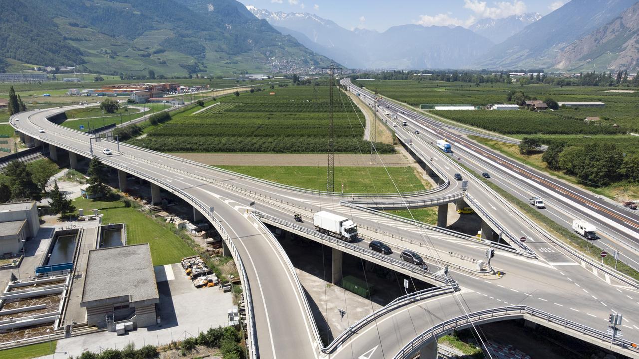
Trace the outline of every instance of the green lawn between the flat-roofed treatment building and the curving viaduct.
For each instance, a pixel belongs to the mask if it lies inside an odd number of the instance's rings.
[[[178,263],[183,257],[196,254],[176,234],[137,208],[125,207],[124,202],[78,198],[73,201],[73,205],[77,209],[101,210],[104,213],[103,224],[125,223],[127,225],[127,243],[130,245],[149,243],[154,266]]]

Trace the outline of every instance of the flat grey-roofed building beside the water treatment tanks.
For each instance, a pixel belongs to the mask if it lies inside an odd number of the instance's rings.
[[[159,302],[148,243],[89,251],[80,302],[89,326],[112,331],[118,322],[155,325]]]

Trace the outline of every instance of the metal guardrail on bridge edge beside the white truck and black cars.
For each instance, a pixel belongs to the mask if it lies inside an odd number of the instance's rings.
[[[376,260],[378,260],[378,261],[380,261],[382,263],[387,263],[391,267],[401,268],[402,270],[410,271],[411,273],[415,273],[417,275],[422,275],[422,277],[427,277],[429,279],[436,280],[437,282],[440,282],[440,283],[443,283],[443,284],[456,284],[457,283],[455,280],[450,279],[447,276],[438,275],[438,274],[433,273],[431,271],[424,270],[424,269],[422,269],[422,268],[420,268],[418,266],[415,266],[413,264],[409,264],[408,262],[399,261],[397,259],[390,258],[388,256],[384,256],[383,254],[378,254],[377,252],[373,252],[371,250],[366,250],[365,248],[359,247],[358,245],[354,245],[353,243],[348,243],[348,242],[345,242],[343,240],[339,240],[339,239],[337,239],[335,237],[327,236],[326,234],[321,234],[318,231],[312,231],[311,229],[307,229],[305,227],[300,227],[299,225],[292,224],[291,222],[286,222],[285,220],[281,220],[279,218],[275,218],[275,217],[272,217],[270,215],[266,215],[264,213],[260,213],[258,211],[254,211],[253,214],[256,217],[264,218],[268,222],[284,225],[284,227],[288,227],[290,229],[293,229],[294,231],[302,232],[302,233],[308,234],[309,236],[313,236],[314,238],[318,238],[318,240],[320,240],[320,241],[327,241],[329,243],[332,243],[333,245],[336,245],[337,247],[342,247],[342,248],[351,250],[353,252],[356,252],[358,254],[361,254],[363,256],[371,257],[371,258],[376,259]]]

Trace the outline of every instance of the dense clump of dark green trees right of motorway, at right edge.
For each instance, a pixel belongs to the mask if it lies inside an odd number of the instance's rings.
[[[539,139],[524,137],[521,153],[531,153],[539,146]],[[618,181],[639,182],[639,154],[626,155],[614,143],[594,143],[568,146],[551,143],[541,159],[548,168],[564,171],[589,186],[604,187]]]

